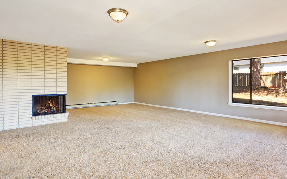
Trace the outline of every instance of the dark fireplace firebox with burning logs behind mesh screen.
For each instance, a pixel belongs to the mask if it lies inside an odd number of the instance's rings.
[[[32,115],[65,113],[66,95],[32,95]]]

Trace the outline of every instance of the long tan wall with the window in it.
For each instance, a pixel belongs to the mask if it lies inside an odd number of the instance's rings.
[[[138,64],[134,101],[287,123],[287,111],[228,106],[228,60],[278,54],[287,41]]]

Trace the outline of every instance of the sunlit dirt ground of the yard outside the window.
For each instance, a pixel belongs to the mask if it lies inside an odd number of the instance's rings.
[[[258,88],[252,92],[252,103],[287,106],[287,93],[274,93],[278,88]],[[233,101],[250,103],[249,87],[233,87]]]

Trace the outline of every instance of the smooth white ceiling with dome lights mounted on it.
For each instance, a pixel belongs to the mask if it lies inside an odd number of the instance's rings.
[[[1,0],[0,38],[143,63],[287,40],[286,0]],[[107,14],[123,8],[122,22]],[[214,47],[204,44],[218,40]]]

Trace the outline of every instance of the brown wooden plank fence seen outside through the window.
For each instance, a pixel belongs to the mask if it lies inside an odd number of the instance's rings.
[[[262,72],[261,73],[261,85],[269,88],[277,88],[282,86],[283,76],[286,76],[284,72]],[[250,85],[250,73],[235,73],[233,74],[233,86],[249,86]]]

